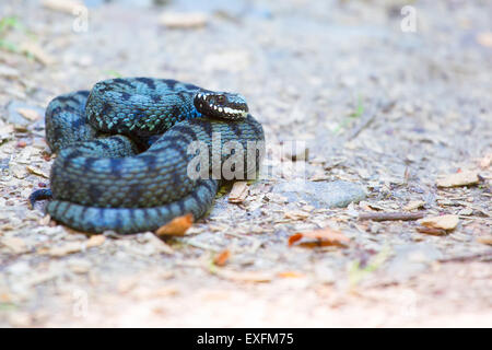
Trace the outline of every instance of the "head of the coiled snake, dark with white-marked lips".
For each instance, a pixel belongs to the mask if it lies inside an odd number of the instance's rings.
[[[248,115],[246,98],[239,94],[199,91],[194,104],[199,113],[208,117],[238,120]]]

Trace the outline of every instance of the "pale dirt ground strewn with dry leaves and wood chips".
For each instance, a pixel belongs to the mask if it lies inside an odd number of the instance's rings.
[[[0,325],[491,327],[491,2],[2,2]],[[177,237],[31,210],[48,102],[134,75],[245,95],[262,178]]]

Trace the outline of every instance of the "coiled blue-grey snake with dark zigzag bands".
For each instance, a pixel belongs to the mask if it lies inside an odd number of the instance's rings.
[[[115,78],[62,94],[45,113],[56,153],[33,206],[71,229],[132,234],[211,209],[220,186],[254,179],[265,133],[243,95],[171,79]]]

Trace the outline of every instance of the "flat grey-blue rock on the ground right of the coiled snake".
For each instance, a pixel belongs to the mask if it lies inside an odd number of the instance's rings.
[[[343,180],[325,183],[295,179],[276,185],[273,192],[286,197],[290,202],[304,200],[316,209],[344,208],[366,197],[363,186]]]

